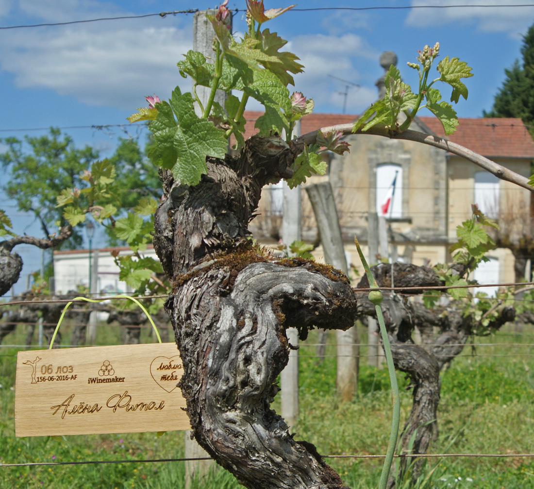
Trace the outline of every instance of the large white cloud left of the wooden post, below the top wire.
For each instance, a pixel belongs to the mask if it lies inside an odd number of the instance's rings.
[[[190,86],[176,67],[191,49],[187,28],[69,26],[1,33],[0,42],[10,46],[0,52],[0,66],[18,87],[48,88],[88,105],[132,109],[145,105],[144,95],[167,97],[178,83]]]

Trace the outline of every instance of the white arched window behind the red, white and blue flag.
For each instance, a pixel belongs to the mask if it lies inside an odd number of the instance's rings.
[[[402,218],[402,166],[376,165],[376,213],[386,218]]]

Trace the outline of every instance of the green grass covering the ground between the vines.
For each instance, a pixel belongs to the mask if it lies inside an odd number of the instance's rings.
[[[365,338],[366,331],[362,331]],[[534,452],[534,356],[528,343],[534,337],[511,335],[505,329],[494,337],[477,338],[477,343],[497,346],[476,348],[480,356],[456,359],[442,376],[439,405],[439,437],[432,453],[532,453]],[[22,344],[25,329],[18,328],[4,343]],[[101,344],[121,343],[120,328],[99,328]],[[63,343],[68,344],[68,325]],[[331,335],[331,341],[334,335]],[[150,330],[143,329],[142,341],[152,341]],[[307,343],[315,343],[311,335]],[[508,343],[525,346],[508,346]],[[362,343],[365,341],[362,339]],[[499,346],[500,344],[500,346]],[[301,347],[300,415],[292,429],[295,439],[314,443],[319,453],[383,454],[389,438],[391,400],[386,369],[376,370],[360,360],[358,395],[351,402],[339,402],[335,394],[335,347],[328,346],[326,358],[318,363],[315,348]],[[360,352],[366,354],[365,347]],[[84,460],[140,460],[178,458],[184,455],[184,434],[168,432],[124,433],[71,436],[56,441],[48,437],[14,437],[15,348],[0,349],[0,462],[60,462]],[[484,356],[484,355],[511,356]],[[411,408],[407,381],[398,375],[402,420]],[[279,399],[273,407],[279,410]],[[36,420],[38,422],[38,420]],[[378,486],[381,459],[326,459],[353,489]],[[103,488],[156,489],[184,487],[184,462],[120,463],[0,468],[0,487],[13,488]],[[425,480],[423,480],[425,479]],[[235,479],[222,470],[193,483],[196,488],[233,489]],[[399,482],[399,487],[409,487]],[[447,457],[429,459],[415,489],[534,489],[534,463],[531,459],[481,459]]]

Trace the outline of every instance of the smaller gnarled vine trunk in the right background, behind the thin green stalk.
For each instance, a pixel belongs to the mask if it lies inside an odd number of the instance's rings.
[[[380,264],[371,267],[371,271],[380,286],[391,286],[391,265]],[[395,263],[393,267],[396,287],[417,287],[405,293],[421,293],[428,286],[442,285],[434,270],[428,267],[417,267],[405,263]],[[358,288],[367,288],[368,281],[364,276]],[[367,299],[366,293],[357,293],[358,316],[374,316],[374,305]],[[405,372],[411,380],[412,409],[400,440],[401,451],[412,454],[425,454],[430,443],[437,437],[437,408],[441,381],[439,372],[447,366],[455,356],[459,355],[469,335],[478,324],[473,315],[463,316],[454,307],[427,309],[420,302],[410,301],[400,294],[384,293],[381,304],[384,322],[388,330],[391,354],[395,368]],[[515,309],[500,306],[498,318],[486,326],[488,330],[499,329],[502,324],[512,321]],[[439,329],[436,336],[429,335],[430,344],[415,345],[412,341],[414,326],[420,329]],[[411,482],[415,484],[421,473],[422,459],[412,459],[400,463],[399,476],[402,479],[411,463]],[[388,487],[395,487],[391,477]]]

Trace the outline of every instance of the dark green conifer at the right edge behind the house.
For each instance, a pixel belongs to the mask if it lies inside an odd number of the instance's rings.
[[[515,60],[505,69],[506,79],[484,117],[517,117],[534,137],[534,25],[523,36],[522,63]]]

